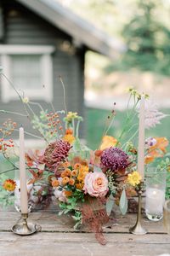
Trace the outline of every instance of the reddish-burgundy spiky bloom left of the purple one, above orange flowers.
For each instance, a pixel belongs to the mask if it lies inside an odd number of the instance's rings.
[[[51,171],[55,172],[59,163],[68,156],[70,149],[71,144],[62,140],[50,143],[42,156],[42,162],[48,166]]]

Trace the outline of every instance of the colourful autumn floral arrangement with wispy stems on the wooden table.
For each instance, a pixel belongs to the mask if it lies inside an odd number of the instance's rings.
[[[54,111],[53,106],[53,112],[48,113],[48,110],[43,110],[38,105],[40,114],[37,115],[32,108],[35,102],[19,95],[32,127],[39,132],[47,145],[42,150],[26,152],[26,169],[30,172],[28,193],[31,207],[48,207],[52,201],[58,202],[59,215],[71,212],[76,221],[75,228],[80,224],[86,225],[95,232],[101,244],[105,244],[102,225],[108,222],[114,203],[125,214],[127,199],[136,195],[141,186],[141,177],[137,170],[138,150],[133,144],[136,134],[128,137],[127,142],[122,144],[122,137],[124,134],[128,135],[133,126],[133,116],[138,115],[141,98],[136,90],[129,89],[129,93],[133,108],[129,109],[120,137],[115,138],[109,134],[116,118],[116,111],[113,109],[107,117],[99,148],[94,151],[79,138],[82,117],[77,113],[67,113],[66,109]],[[0,113],[12,112],[2,110]],[[146,126],[150,128],[158,124],[165,116],[156,108],[146,111]],[[16,130],[17,124],[12,119],[8,119],[0,128],[0,153],[10,166],[0,172],[0,203],[3,205],[14,203],[13,195],[20,192],[20,183],[7,176],[9,171],[18,169],[17,145],[11,138],[12,132]],[[154,160],[159,160],[158,168],[169,171],[169,158],[162,160],[166,155],[167,145],[165,137],[150,137],[146,140],[146,168]],[[17,204],[20,208],[19,201]]]

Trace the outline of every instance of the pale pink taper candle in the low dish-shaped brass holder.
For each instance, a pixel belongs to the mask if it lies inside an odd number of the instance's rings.
[[[20,211],[28,213],[24,128],[20,127]]]

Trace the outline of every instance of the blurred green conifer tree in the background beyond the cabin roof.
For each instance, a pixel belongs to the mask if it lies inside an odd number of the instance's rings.
[[[136,14],[123,27],[127,52],[122,67],[170,75],[170,31],[156,16],[161,1],[138,0]]]

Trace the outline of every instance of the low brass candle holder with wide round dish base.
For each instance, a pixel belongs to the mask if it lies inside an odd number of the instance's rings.
[[[14,232],[14,234],[20,236],[28,236],[41,230],[41,226],[37,224],[27,224],[28,213],[21,213],[21,216],[22,222],[20,224],[15,224],[12,227],[12,231]]]

